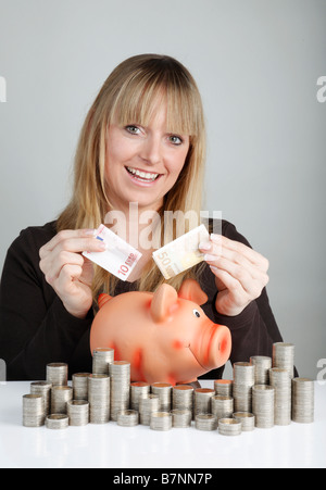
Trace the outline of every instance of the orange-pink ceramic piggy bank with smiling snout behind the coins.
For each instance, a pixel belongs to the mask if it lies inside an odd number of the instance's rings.
[[[189,384],[224,365],[231,336],[200,307],[208,301],[195,279],[177,292],[167,284],[152,292],[99,296],[99,312],[90,330],[91,353],[114,349],[115,361],[130,363],[130,380]]]

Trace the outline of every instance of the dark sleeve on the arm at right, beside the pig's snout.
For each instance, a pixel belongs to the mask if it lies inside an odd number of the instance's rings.
[[[228,222],[223,222],[222,234],[230,240],[240,241],[250,247],[248,240],[240,235],[236,227]],[[267,355],[272,357],[273,343],[283,341],[274,314],[272,312],[266,288],[262,290],[260,298],[252,301],[239,315],[221,315],[215,309],[215,299],[217,294],[214,276],[205,267],[201,282],[206,288],[209,303],[205,306],[208,314],[212,319],[226,325],[231,332],[231,354],[229,361],[231,364],[238,361],[249,362],[252,355]],[[221,377],[223,369],[216,369],[208,375],[206,378]]]

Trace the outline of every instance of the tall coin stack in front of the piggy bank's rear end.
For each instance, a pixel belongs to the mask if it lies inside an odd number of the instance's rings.
[[[129,409],[130,403],[130,363],[113,361],[109,364],[111,377],[111,419],[116,422],[117,412]]]

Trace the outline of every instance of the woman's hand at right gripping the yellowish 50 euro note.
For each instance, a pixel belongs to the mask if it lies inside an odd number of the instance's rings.
[[[215,276],[218,290],[215,306],[218,313],[236,316],[261,296],[268,282],[268,261],[246,244],[222,235],[211,235],[200,243],[204,260]]]

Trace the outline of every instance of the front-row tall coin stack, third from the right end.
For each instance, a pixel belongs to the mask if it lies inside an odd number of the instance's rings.
[[[271,428],[274,426],[275,389],[268,385],[255,385],[252,388],[252,413],[255,417],[255,427]]]

